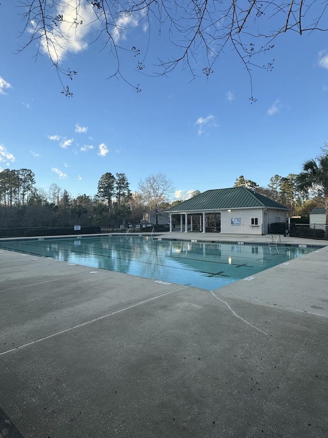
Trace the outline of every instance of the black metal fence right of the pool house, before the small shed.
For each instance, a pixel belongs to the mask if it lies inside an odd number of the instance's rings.
[[[288,223],[275,222],[268,226],[268,233],[302,237],[305,239],[327,240],[328,226],[315,223],[292,223],[290,228],[288,228]]]

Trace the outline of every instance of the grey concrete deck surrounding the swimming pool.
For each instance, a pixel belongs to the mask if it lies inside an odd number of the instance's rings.
[[[281,243],[213,292],[0,250],[0,437],[326,437],[328,242]]]

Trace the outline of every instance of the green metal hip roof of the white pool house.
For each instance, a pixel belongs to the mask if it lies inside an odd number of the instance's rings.
[[[187,213],[192,211],[223,210],[226,208],[272,207],[279,210],[289,210],[279,202],[259,195],[249,188],[231,187],[208,190],[193,198],[187,199],[174,207],[169,213]]]

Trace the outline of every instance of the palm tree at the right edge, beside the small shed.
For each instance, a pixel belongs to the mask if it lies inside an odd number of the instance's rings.
[[[326,211],[326,225],[328,225],[328,154],[319,156],[316,160],[303,163],[303,172],[297,176],[297,188],[302,191],[315,189],[322,198]]]

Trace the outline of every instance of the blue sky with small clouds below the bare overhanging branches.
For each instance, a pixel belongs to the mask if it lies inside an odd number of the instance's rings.
[[[136,58],[123,54],[121,70],[140,84],[137,93],[108,79],[114,64],[97,43],[87,44],[85,30],[75,51],[64,53],[65,66],[78,72],[64,80],[73,92],[66,98],[48,56],[35,60],[36,44],[17,53],[27,41],[19,37],[24,25],[17,4],[0,6],[6,42],[0,47],[0,169],[31,169],[37,188],[48,191],[56,183],[74,197],[92,196],[106,172],[125,173],[132,192],[140,179],[162,173],[175,188],[172,200],[231,187],[239,175],[267,186],[275,174],[299,173],[328,141],[324,32],[280,35],[257,59],[274,58],[273,70],[252,69],[257,101],[251,104],[248,74],[230,48],[208,79],[199,62],[195,80],[179,66],[168,77],[142,74]],[[137,47],[142,32],[141,25],[130,26],[125,44]],[[149,54],[156,59],[166,42],[154,40]]]

